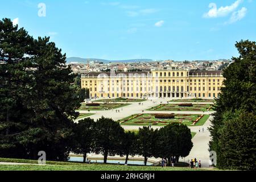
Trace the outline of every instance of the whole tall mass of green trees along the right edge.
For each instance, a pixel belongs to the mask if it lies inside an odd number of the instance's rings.
[[[239,57],[224,69],[216,100],[210,150],[221,169],[256,169],[256,43],[237,42]]]

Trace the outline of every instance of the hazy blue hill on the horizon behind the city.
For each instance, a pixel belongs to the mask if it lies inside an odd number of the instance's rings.
[[[147,62],[153,61],[152,59],[130,59],[130,60],[105,60],[105,59],[95,59],[95,58],[81,58],[81,57],[68,57],[67,63],[77,62],[77,63],[87,63],[88,61],[97,61],[99,63],[135,63],[135,62]]]

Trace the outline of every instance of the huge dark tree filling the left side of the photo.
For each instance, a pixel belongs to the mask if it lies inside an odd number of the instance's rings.
[[[33,39],[10,19],[0,21],[0,155],[68,158],[80,106],[75,75],[49,38]]]

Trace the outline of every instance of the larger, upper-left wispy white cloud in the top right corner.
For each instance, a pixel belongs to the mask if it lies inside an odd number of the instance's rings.
[[[218,9],[217,9],[216,3],[210,3],[209,4],[210,10],[208,11],[208,13],[205,13],[203,15],[203,17],[204,18],[217,18],[220,16],[226,16],[226,15],[232,13],[233,11],[235,11],[237,9],[237,7],[242,3],[242,1],[243,0],[237,0],[230,6],[225,6],[225,7],[221,6]]]

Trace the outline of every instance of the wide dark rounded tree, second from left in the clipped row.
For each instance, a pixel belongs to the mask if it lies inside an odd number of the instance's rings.
[[[97,120],[94,133],[94,151],[104,155],[104,163],[107,162],[109,155],[114,156],[120,153],[125,131],[118,122],[102,117]]]

